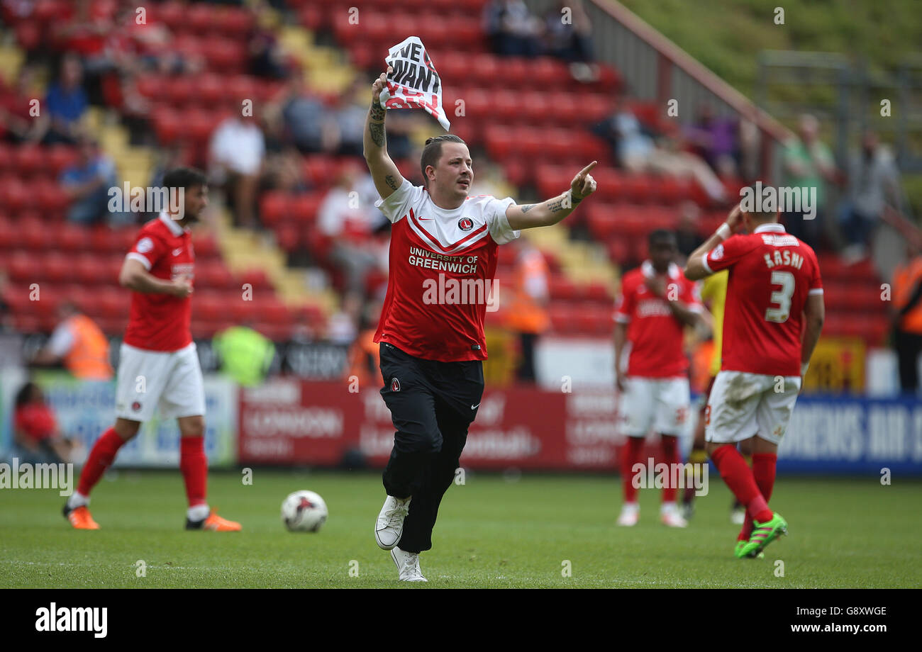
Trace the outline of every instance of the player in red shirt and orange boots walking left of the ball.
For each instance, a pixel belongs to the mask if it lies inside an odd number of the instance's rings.
[[[119,283],[133,292],[116,374],[115,425],[89,451],[77,491],[64,506],[65,518],[78,530],[99,529],[89,514],[89,492],[158,407],[163,419],[175,417],[179,424],[186,529],[241,529],[206,502],[205,389],[189,328],[195,253],[188,226],[208,204],[207,180],[197,169],[177,168],[163,176],[163,186],[171,206],[173,197],[183,197],[183,211],[160,213],[144,225],[119,274]]]

